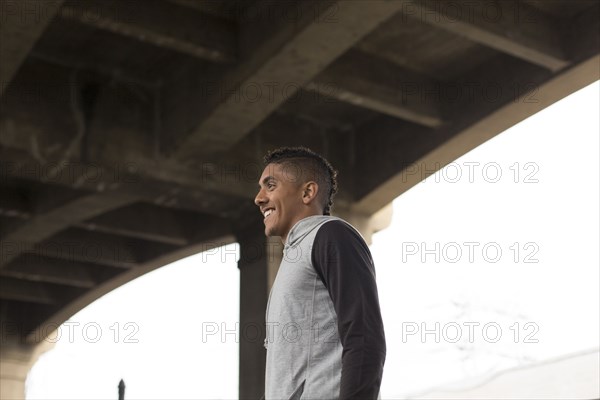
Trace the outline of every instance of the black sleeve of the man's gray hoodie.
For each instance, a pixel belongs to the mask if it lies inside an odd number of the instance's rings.
[[[312,263],[337,314],[342,351],[340,400],[376,399],[385,362],[385,334],[367,244],[343,221],[323,225]]]

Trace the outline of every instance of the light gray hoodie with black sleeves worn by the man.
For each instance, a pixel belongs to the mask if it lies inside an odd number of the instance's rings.
[[[290,230],[266,311],[265,399],[377,398],[385,337],[368,247],[345,221]]]

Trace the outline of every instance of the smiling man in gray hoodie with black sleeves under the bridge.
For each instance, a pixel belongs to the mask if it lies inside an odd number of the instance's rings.
[[[265,399],[376,399],[385,336],[365,241],[329,215],[327,160],[304,147],[265,156],[255,203],[283,259],[267,304]]]

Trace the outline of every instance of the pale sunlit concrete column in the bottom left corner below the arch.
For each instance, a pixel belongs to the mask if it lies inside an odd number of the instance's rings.
[[[40,355],[54,347],[54,343],[23,344],[2,335],[0,346],[0,399],[25,399],[27,374]]]

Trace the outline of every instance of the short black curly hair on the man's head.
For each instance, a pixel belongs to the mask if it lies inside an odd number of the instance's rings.
[[[337,193],[337,171],[323,156],[303,146],[280,147],[269,151],[264,163],[265,166],[295,164],[295,167],[300,168],[303,177],[313,177],[319,187],[324,189],[319,196],[323,202],[323,215],[330,215],[333,197]]]

